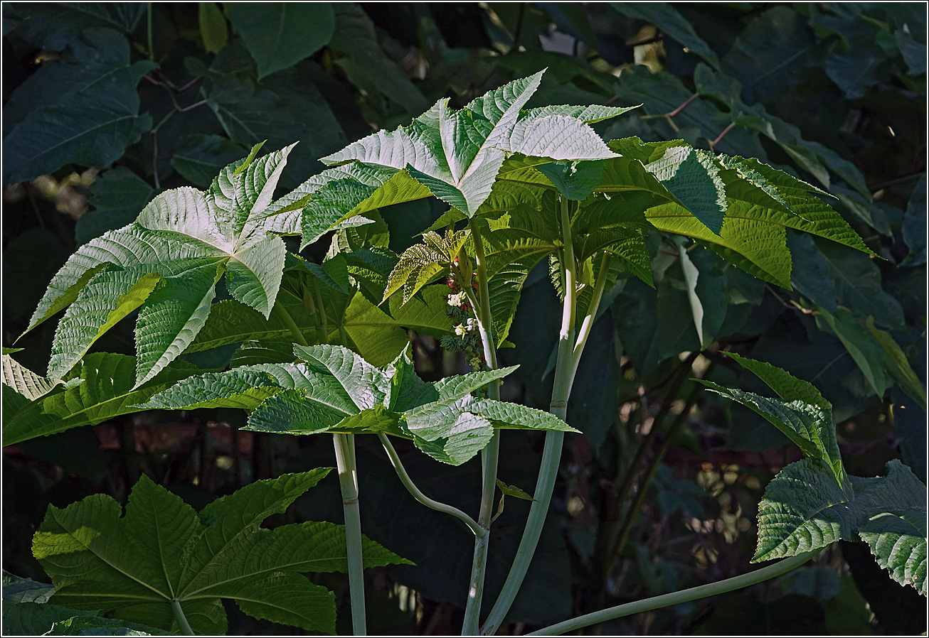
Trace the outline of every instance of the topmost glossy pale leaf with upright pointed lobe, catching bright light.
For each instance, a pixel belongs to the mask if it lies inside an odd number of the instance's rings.
[[[504,152],[552,159],[614,157],[582,117],[599,121],[627,109],[550,107],[521,112],[542,73],[516,80],[473,100],[462,110],[439,100],[409,127],[378,132],[322,161],[359,161],[406,171],[468,217],[474,216],[504,162]]]

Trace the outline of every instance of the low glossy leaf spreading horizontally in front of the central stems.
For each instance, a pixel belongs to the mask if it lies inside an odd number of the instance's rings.
[[[263,432],[381,432],[412,439],[452,465],[483,449],[494,427],[574,431],[539,410],[470,395],[515,368],[425,383],[405,352],[380,368],[340,346],[294,346],[294,354],[300,363],[196,376],[138,407],[240,407],[254,410],[248,429]]]

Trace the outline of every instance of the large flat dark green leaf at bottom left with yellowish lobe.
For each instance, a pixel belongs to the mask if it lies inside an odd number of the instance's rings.
[[[334,595],[301,576],[347,568],[345,529],[331,523],[260,527],[330,468],[256,481],[198,514],[146,476],[125,514],[96,494],[48,508],[33,555],[56,586],[51,602],[177,632],[176,599],[195,632],[223,634],[221,599],[247,614],[308,631],[334,632]],[[363,539],[365,567],[408,562]]]

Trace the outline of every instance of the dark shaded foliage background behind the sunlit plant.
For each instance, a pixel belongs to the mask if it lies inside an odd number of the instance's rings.
[[[880,259],[789,232],[785,290],[693,250],[702,334],[677,246],[648,236],[657,288],[632,278],[608,293],[569,406],[584,435],[569,436],[510,631],[748,568],[765,484],[799,452],[757,415],[688,380],[697,373],[764,391],[720,350],[815,383],[834,405],[849,473],[880,475],[902,458],[925,480],[924,4],[5,3],[3,11],[6,346],[76,246],[130,223],[165,188],[204,187],[265,139],[264,150],[300,140],[281,178],[292,188],[321,171],[317,158],[408,123],[441,96],[461,107],[546,67],[530,107],[642,104],[598,132],[756,157],[836,198]],[[417,201],[381,212],[399,252],[442,208]],[[522,293],[516,348],[502,353],[521,365],[504,398],[547,405],[557,308],[539,268]],[[38,372],[50,324],[17,343],[20,363]],[[131,354],[130,325],[107,333],[99,350]],[[882,347],[876,331],[902,354]],[[434,339],[411,337],[422,376],[462,365]],[[226,410],[142,413],[8,447],[4,568],[44,580],[30,540],[46,504],[99,491],[124,502],[141,473],[200,508],[252,480],[333,463],[328,441],[239,432],[243,423]],[[469,535],[414,503],[364,439],[365,533],[417,564],[368,570],[371,631],[456,632]],[[506,432],[503,444],[501,479],[530,489],[541,438]],[[477,510],[476,461],[438,466],[400,452],[430,495]],[[326,479],[278,523],[341,522],[337,494]],[[488,609],[528,511],[511,501],[491,532]],[[347,632],[344,577],[314,579],[342,594]],[[863,544],[843,543],[773,584],[592,631],[910,633],[924,631],[922,609]],[[236,633],[280,629],[234,608],[229,623]]]

